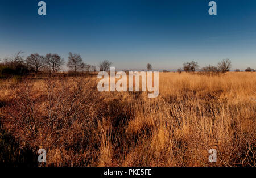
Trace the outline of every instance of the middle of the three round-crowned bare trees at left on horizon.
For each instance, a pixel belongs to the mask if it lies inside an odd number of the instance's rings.
[[[58,54],[46,54],[46,65],[52,69],[53,73],[60,70],[60,67],[64,65],[64,60]]]

